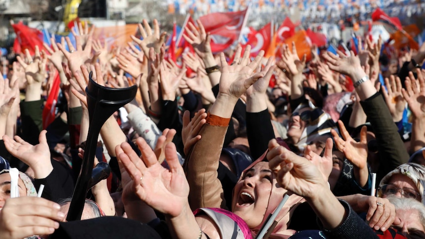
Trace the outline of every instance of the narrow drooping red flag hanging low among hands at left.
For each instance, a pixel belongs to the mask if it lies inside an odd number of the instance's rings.
[[[44,105],[42,112],[43,129],[46,129],[56,117],[56,103],[58,102],[59,86],[61,84],[61,78],[59,73],[56,71],[55,79],[53,80],[52,90],[47,97],[46,104]]]

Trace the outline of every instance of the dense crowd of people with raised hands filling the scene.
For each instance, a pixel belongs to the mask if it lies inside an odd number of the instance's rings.
[[[156,20],[127,47],[80,23],[75,47],[52,37],[10,60],[0,238],[425,238],[425,44],[386,55],[359,38],[358,54],[307,57],[292,43],[251,58],[249,45],[213,54],[197,25],[177,63]],[[93,167],[110,175],[67,221],[97,117],[91,79],[138,92],[100,130]]]

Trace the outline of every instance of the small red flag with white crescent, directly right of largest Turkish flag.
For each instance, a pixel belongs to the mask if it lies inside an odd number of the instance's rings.
[[[255,30],[254,30],[255,31]],[[272,23],[266,24],[258,32],[248,34],[247,44],[251,46],[251,56],[255,57],[259,51],[267,51],[271,42]]]

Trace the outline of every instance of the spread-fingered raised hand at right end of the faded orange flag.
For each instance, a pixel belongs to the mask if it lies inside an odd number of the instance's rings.
[[[149,26],[149,23],[143,19],[143,26],[139,23],[139,31],[142,34],[143,40],[137,38],[136,36],[131,36],[131,38],[139,44],[142,48],[144,54],[149,55],[149,48],[153,47],[156,53],[160,52],[160,48],[165,41],[166,32],[160,34],[159,24],[156,19],[153,19],[153,33],[152,29]]]

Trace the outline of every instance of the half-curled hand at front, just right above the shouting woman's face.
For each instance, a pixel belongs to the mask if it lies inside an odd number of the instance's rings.
[[[279,185],[296,195],[313,198],[318,189],[328,187],[312,162],[279,145],[276,139],[270,140],[266,157]]]

